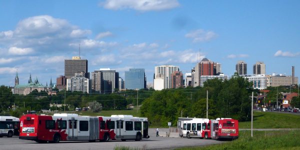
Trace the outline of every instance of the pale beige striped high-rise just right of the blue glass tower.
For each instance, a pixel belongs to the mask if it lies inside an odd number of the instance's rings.
[[[173,73],[174,71],[179,71],[179,67],[174,65],[155,66],[154,89],[158,89],[158,87],[160,88],[161,86],[163,86],[163,88],[171,88],[171,73]],[[158,85],[158,83],[160,84],[160,81],[156,82],[155,85],[155,79],[159,78],[159,80],[161,80],[161,77],[163,77],[163,85]]]

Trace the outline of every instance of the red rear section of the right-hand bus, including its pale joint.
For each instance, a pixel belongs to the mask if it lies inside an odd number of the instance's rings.
[[[211,138],[238,138],[238,120],[232,118],[216,118],[211,120]]]

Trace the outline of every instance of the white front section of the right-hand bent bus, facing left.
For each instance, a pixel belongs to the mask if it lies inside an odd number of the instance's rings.
[[[207,118],[193,118],[183,121],[182,136],[210,138],[210,120]]]

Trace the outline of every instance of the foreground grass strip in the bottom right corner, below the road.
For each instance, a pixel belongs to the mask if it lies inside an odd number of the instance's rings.
[[[186,147],[185,149],[300,149],[300,132],[289,131],[240,131],[239,138],[223,144],[205,147]]]

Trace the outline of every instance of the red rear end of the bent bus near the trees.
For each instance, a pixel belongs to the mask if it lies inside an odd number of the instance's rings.
[[[238,138],[238,120],[230,118],[219,119],[216,138]]]

